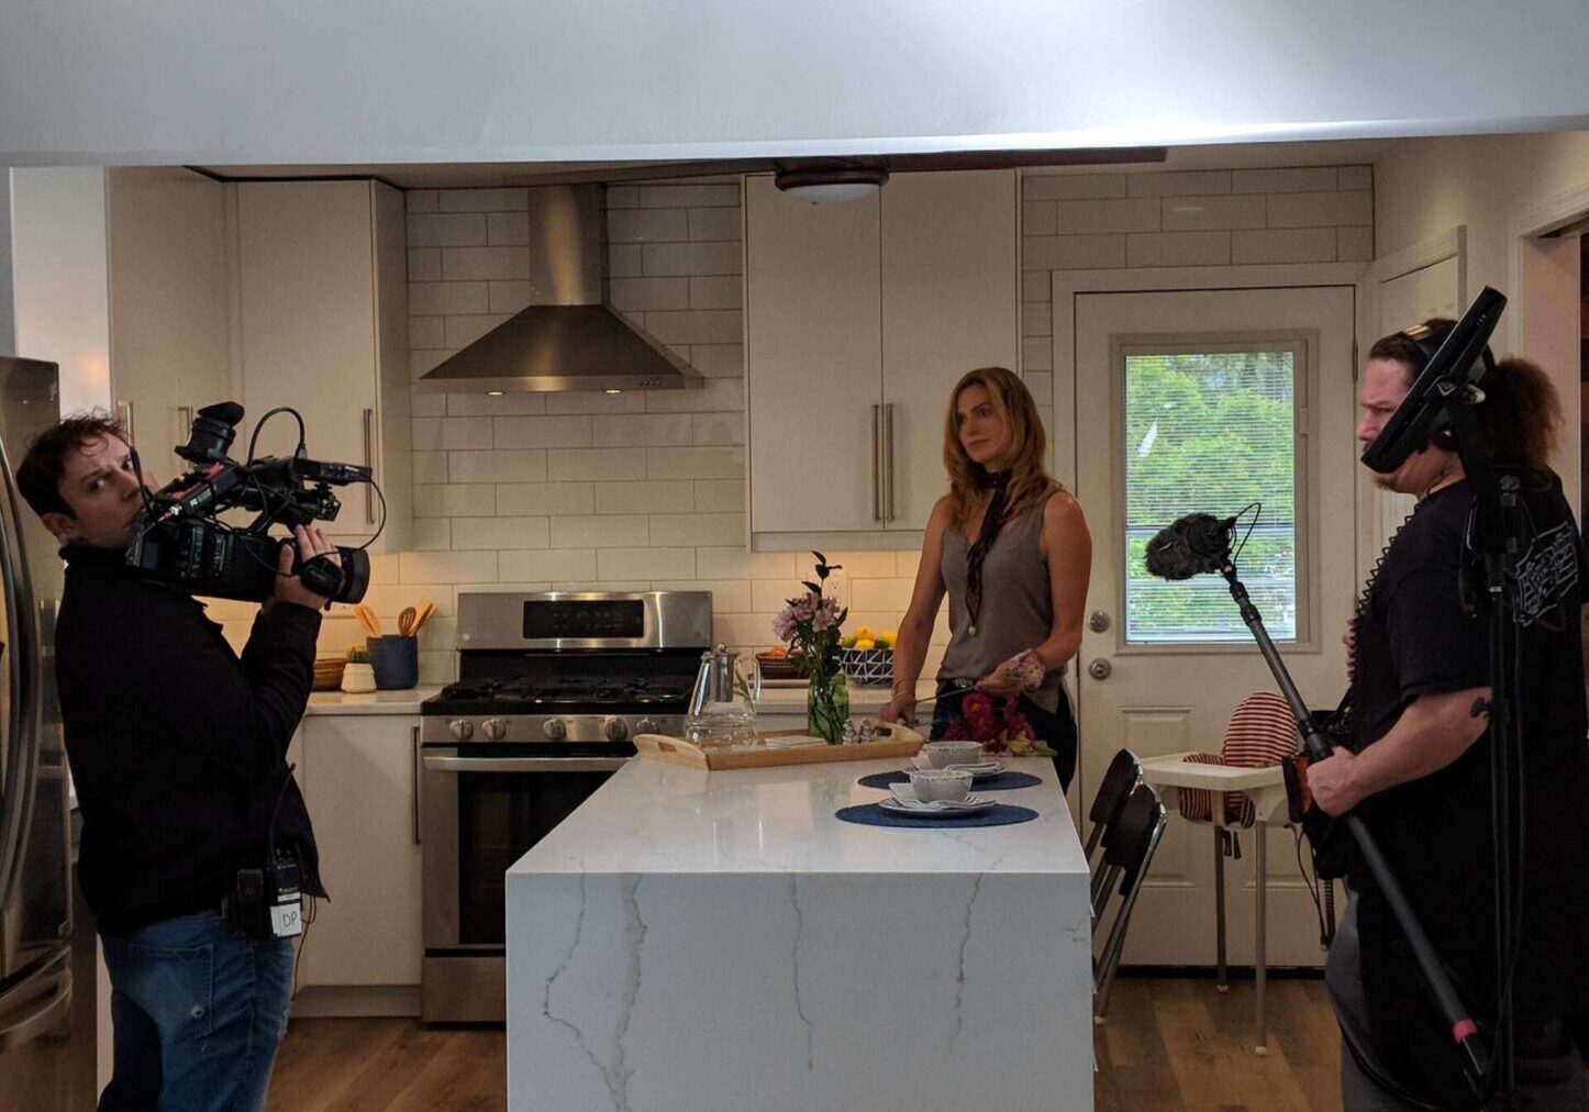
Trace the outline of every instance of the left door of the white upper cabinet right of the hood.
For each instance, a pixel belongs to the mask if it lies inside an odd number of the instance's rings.
[[[880,529],[877,199],[809,205],[745,180],[750,529]]]

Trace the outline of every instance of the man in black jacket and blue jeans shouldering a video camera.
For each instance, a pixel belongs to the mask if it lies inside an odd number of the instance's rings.
[[[56,675],[116,1031],[100,1109],[262,1109],[292,940],[229,926],[222,901],[238,871],[265,867],[267,845],[296,851],[302,890],[326,894],[286,750],[326,605],[291,573],[294,546],[307,561],[332,545],[294,531],[238,659],[203,604],[127,567],[153,478],[118,421],[60,421],[16,478],[67,561]]]

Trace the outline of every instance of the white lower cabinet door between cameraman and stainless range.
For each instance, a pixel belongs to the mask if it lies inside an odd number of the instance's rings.
[[[303,940],[303,985],[419,983],[419,720],[303,720],[303,785],[329,901]]]

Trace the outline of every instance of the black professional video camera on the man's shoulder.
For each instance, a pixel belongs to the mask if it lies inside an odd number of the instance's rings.
[[[334,521],[342,502],[331,488],[372,481],[369,467],[308,459],[303,418],[296,410],[265,413],[254,426],[256,442],[259,429],[275,413],[297,418],[297,451],[286,459],[254,459],[251,442],[248,462],[238,464],[226,453],[243,419],[243,407],[219,402],[199,410],[188,443],[176,448],[192,469],[157,492],[145,494],[143,508],[133,518],[129,566],[189,594],[243,602],[264,602],[275,594],[283,539],[270,537],[270,526],[280,523],[291,529]],[[385,499],[381,505],[385,512]],[[232,508],[253,510],[257,516],[245,527],[221,521],[218,515]],[[307,562],[294,554],[292,573],[315,594],[334,602],[358,602],[370,585],[370,558],[362,548],[342,545],[337,553],[342,554],[340,567],[329,553]]]

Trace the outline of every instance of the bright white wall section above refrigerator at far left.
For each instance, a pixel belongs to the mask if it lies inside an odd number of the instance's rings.
[[[11,172],[16,353],[60,364],[60,411],[110,407],[105,172]]]

